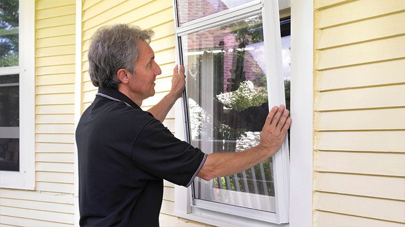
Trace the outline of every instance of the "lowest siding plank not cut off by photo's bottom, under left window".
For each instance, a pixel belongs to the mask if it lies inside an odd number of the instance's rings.
[[[73,214],[0,206],[2,215],[73,224]]]

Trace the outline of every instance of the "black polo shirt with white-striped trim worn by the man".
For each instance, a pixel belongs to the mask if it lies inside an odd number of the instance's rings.
[[[76,129],[80,226],[158,226],[163,179],[188,187],[207,154],[113,88]]]

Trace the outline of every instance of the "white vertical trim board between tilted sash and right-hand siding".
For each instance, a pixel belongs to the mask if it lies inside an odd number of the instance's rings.
[[[291,1],[290,226],[312,226],[313,1]]]

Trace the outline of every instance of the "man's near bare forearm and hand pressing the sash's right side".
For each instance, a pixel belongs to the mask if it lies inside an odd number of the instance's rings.
[[[278,110],[277,110],[278,109]],[[284,105],[273,107],[260,133],[260,145],[242,152],[209,154],[197,176],[209,181],[240,173],[272,156],[281,147],[291,125]]]

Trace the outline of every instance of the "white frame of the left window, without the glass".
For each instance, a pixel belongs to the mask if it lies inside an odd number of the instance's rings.
[[[0,187],[35,188],[35,1],[19,1],[19,66],[0,75],[19,74],[19,172],[0,171]]]

